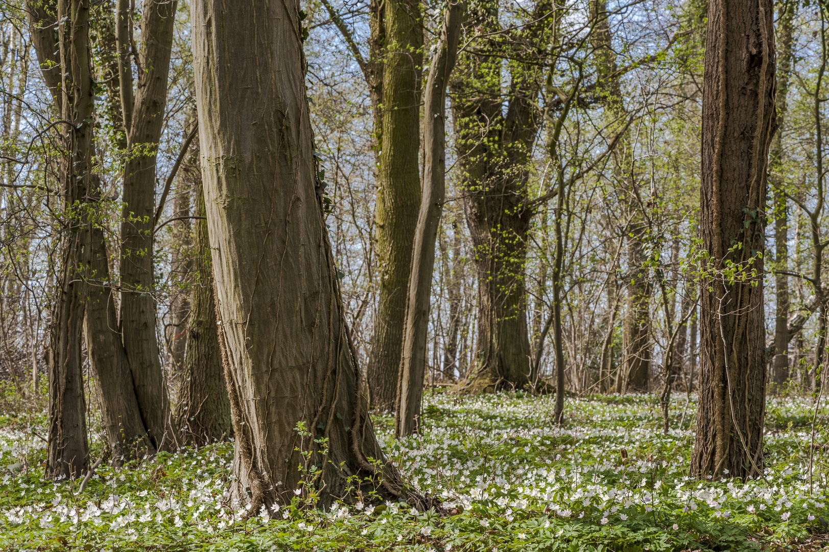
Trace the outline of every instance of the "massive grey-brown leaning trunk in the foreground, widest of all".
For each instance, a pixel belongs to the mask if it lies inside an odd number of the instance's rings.
[[[366,418],[315,190],[299,2],[193,2],[199,143],[236,436],[231,501],[322,503],[385,459]],[[325,449],[313,438],[327,438]],[[301,452],[310,453],[305,464]],[[318,466],[303,476],[298,466]],[[386,496],[400,494],[393,468]],[[346,497],[347,498],[347,497]]]

